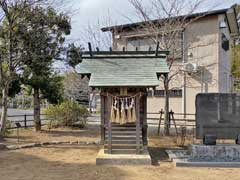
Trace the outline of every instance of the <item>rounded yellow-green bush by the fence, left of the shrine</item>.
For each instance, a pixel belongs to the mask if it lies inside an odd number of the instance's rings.
[[[88,110],[76,102],[65,101],[59,105],[50,105],[44,113],[48,119],[51,119],[49,126],[80,126],[85,127]]]

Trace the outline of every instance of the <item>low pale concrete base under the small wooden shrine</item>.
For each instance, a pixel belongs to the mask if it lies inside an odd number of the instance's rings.
[[[143,154],[105,154],[101,149],[96,158],[97,165],[151,165],[151,157],[146,150]]]

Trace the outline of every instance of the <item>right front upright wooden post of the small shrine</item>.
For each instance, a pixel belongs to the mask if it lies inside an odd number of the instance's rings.
[[[136,97],[136,117],[137,117],[137,121],[136,121],[136,150],[137,150],[137,154],[140,154],[140,97],[137,96]]]

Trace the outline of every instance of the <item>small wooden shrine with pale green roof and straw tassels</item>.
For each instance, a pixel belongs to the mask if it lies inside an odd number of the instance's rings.
[[[167,76],[167,51],[85,52],[78,72],[101,96],[101,140],[106,154],[147,148],[147,90]]]

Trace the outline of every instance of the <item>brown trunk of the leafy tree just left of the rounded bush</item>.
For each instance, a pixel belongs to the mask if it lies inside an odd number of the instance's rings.
[[[34,104],[33,114],[34,114],[35,130],[41,131],[39,88],[34,88],[33,104]]]

